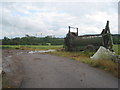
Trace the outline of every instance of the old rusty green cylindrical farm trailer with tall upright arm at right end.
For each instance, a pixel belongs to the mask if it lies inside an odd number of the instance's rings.
[[[109,29],[109,21],[105,26],[105,29],[102,30],[101,34],[93,34],[93,35],[82,35],[78,36],[78,28],[77,32],[69,32],[64,38],[64,47],[67,51],[82,51],[82,50],[94,50],[96,51],[100,46],[104,46],[107,49],[112,51],[113,40],[112,35]]]

